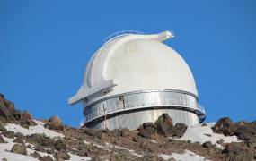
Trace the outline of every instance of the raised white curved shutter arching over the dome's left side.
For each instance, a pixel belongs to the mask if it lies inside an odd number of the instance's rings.
[[[113,82],[113,78],[105,79],[104,72],[108,70],[108,64],[111,55],[115,55],[116,50],[125,42],[140,39],[155,39],[163,41],[168,38],[172,38],[172,33],[169,31],[162,32],[154,35],[127,35],[122,37],[112,38],[105,43],[91,58],[89,64],[86,67],[84,73],[84,84],[78,90],[74,97],[68,100],[69,104],[75,104],[84,98],[90,97],[95,93],[104,92],[116,86]]]

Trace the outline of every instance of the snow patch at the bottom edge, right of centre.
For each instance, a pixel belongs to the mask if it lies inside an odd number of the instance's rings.
[[[162,157],[163,160],[170,160],[174,158],[177,161],[208,161],[205,157],[199,156],[196,153],[185,150],[185,153],[172,153],[172,155],[159,154],[158,157]]]

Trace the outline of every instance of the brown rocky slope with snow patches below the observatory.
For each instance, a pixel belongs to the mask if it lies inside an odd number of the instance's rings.
[[[76,129],[57,116],[36,121],[4,97],[0,121],[2,160],[256,160],[256,122],[187,127],[163,114],[135,131]]]

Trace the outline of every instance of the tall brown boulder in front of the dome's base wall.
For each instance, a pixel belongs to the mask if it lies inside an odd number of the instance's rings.
[[[158,134],[163,136],[172,136],[173,124],[172,118],[168,114],[162,114],[154,123]]]

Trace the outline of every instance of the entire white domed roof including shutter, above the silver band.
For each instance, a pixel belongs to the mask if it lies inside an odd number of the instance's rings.
[[[87,64],[84,84],[69,103],[86,98],[90,104],[104,97],[142,90],[180,90],[197,97],[188,64],[162,42],[168,38],[172,38],[169,31],[110,39]]]

